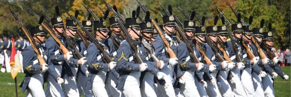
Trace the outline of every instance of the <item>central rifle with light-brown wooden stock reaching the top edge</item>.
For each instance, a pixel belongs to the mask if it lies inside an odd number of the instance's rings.
[[[138,0],[137,0],[138,1]],[[149,18],[151,19],[152,23],[154,24],[156,30],[159,32],[159,35],[161,36],[164,44],[166,45],[167,47],[167,52],[170,56],[170,58],[177,58],[177,56],[175,55],[174,51],[171,49],[170,47],[170,44],[168,43],[168,41],[165,39],[165,37],[163,36],[163,32],[162,32],[162,29],[160,28],[160,26],[158,25],[158,23],[155,21],[155,19],[149,14],[149,12],[147,11],[147,8],[145,5],[142,5],[139,1],[138,3],[142,6],[142,9],[145,13],[148,13],[149,15]]]

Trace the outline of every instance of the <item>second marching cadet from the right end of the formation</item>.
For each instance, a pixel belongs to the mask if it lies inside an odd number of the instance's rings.
[[[259,44],[259,46],[261,45],[262,40],[264,38],[263,25],[264,25],[264,19],[261,20],[260,28],[253,28],[253,30],[252,30],[253,35],[255,36],[254,38],[256,40],[258,40],[257,43]],[[258,48],[259,47],[255,46],[254,44],[252,44],[251,46],[252,46],[252,49],[253,49],[253,54],[255,56],[259,56],[260,58],[262,58],[261,57],[262,55],[259,55],[259,53],[258,53]],[[261,49],[261,50],[263,50],[263,49]],[[269,63],[269,59],[268,58],[264,58],[262,61],[259,61],[258,65],[260,67],[263,67],[263,72],[261,74],[259,74],[259,75],[256,74],[255,72],[252,73],[252,81],[253,81],[253,85],[254,85],[254,88],[255,88],[256,96],[258,96],[258,97],[264,97],[265,96],[264,95],[264,90],[263,90],[263,85],[262,85],[262,79],[268,79],[268,78],[264,78],[264,77],[266,77],[267,74],[272,75],[272,73],[273,73],[273,69],[270,67],[270,65],[268,63]],[[271,80],[265,80],[265,81],[269,81],[268,83],[271,83],[271,85],[272,85]]]

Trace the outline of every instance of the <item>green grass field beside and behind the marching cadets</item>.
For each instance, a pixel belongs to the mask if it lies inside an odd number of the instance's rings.
[[[281,66],[283,71],[291,78],[291,67],[290,66]],[[21,92],[19,87],[22,82],[25,74],[18,73],[17,75],[17,91],[18,97],[25,97],[26,93]],[[16,97],[15,93],[15,84],[14,79],[12,79],[10,73],[0,73],[0,97]],[[281,77],[275,79],[275,96],[276,97],[291,97],[291,80],[284,81]],[[45,83],[46,89],[46,83]],[[82,96],[83,97],[83,96]]]

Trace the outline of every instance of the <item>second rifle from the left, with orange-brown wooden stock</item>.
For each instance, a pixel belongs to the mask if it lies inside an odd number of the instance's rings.
[[[36,14],[31,10],[28,9],[27,7],[25,7],[23,4],[22,6],[33,16],[36,16]],[[40,18],[38,16],[36,16],[37,20],[40,20]],[[56,43],[59,45],[59,48],[62,50],[62,52],[64,54],[66,54],[67,52],[69,52],[68,49],[65,48],[65,46],[62,44],[62,42],[56,37],[55,33],[52,31],[52,29],[49,28],[49,26],[47,24],[45,24],[44,22],[41,23],[41,25],[49,32],[50,36],[56,41]]]

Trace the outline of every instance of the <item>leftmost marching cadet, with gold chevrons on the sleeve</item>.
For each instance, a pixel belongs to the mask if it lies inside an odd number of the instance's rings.
[[[22,51],[22,55],[25,58],[23,60],[23,68],[25,79],[20,84],[22,87],[22,92],[24,93],[27,89],[27,93],[25,97],[46,97],[45,92],[43,91],[44,85],[44,72],[48,69],[49,71],[55,70],[53,68],[53,64],[49,59],[49,52],[46,47],[41,44],[45,43],[45,32],[42,30],[41,26],[34,26],[30,29],[30,33],[32,35],[32,41],[35,42],[34,46],[38,49],[41,54],[43,60],[46,62],[40,65],[39,60],[37,59],[37,54],[34,53],[32,46],[28,46],[26,49]],[[56,76],[56,75],[54,75]]]

